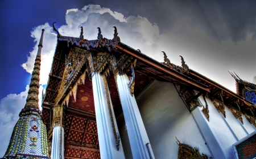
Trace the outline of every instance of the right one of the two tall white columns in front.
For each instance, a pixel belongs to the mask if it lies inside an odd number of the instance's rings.
[[[148,144],[150,141],[141,118],[141,113],[139,113],[137,102],[134,96],[131,96],[128,83],[129,79],[126,74],[122,76],[117,75],[118,91],[133,158],[154,158],[152,149],[147,148],[147,145],[150,147],[150,144]]]

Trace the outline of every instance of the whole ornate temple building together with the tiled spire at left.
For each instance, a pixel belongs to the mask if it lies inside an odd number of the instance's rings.
[[[79,37],[61,35],[54,23],[53,29],[57,45],[42,114],[38,53],[4,158],[256,157],[255,84],[230,72],[234,93],[181,56],[181,66],[164,51],[163,62],[155,61],[123,44],[116,27],[113,38],[97,28],[96,40],[86,40],[82,27]],[[42,40],[43,32],[39,50]]]

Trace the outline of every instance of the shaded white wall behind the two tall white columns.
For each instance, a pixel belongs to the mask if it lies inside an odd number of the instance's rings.
[[[179,146],[175,136],[181,143],[197,147],[200,153],[212,157],[192,114],[172,83],[153,81],[137,98],[137,104],[155,158],[177,158]],[[132,158],[122,115],[117,123],[125,156]]]

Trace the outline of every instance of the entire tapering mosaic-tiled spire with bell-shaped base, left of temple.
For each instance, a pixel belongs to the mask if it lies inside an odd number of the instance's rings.
[[[41,120],[41,111],[38,105],[39,73],[41,62],[41,50],[43,48],[43,34],[38,45],[38,53],[35,59],[34,70],[28,91],[27,102],[19,113],[10,143],[3,158],[36,159],[49,158],[47,147],[46,126]]]

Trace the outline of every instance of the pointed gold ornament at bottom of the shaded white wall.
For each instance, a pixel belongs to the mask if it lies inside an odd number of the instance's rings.
[[[208,156],[204,153],[200,154],[196,147],[193,149],[189,145],[181,144],[177,137],[176,140],[179,142],[176,142],[179,145],[178,159],[208,159]]]

